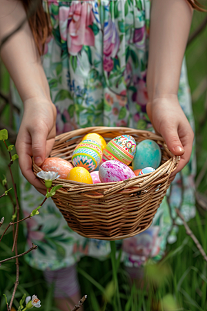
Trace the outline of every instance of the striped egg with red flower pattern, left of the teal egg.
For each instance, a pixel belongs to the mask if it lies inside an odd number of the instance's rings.
[[[120,135],[110,140],[103,149],[102,161],[118,160],[126,165],[129,165],[136,152],[135,139],[130,135]]]

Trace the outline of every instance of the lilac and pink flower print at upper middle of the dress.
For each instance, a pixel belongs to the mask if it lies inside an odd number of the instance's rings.
[[[112,19],[104,24],[103,29],[103,70],[110,72],[113,68],[113,60],[119,50],[120,39],[115,23]]]

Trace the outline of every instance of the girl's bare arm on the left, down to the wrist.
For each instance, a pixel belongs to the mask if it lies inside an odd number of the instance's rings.
[[[26,17],[21,1],[0,0],[0,41]],[[28,22],[3,45],[0,56],[21,100],[50,101],[50,91]]]

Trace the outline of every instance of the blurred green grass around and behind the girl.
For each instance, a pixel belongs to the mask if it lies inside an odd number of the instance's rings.
[[[204,15],[195,12],[193,17],[192,31],[201,22]],[[193,94],[193,112],[196,125],[197,144],[197,170],[198,173],[204,166],[207,158],[207,122],[201,122],[204,117],[204,105],[206,102],[207,78],[207,28],[193,41],[186,51],[186,61],[188,65],[188,77],[190,89]],[[1,66],[1,91],[8,91],[8,73]],[[207,85],[207,84],[206,84]],[[9,120],[9,110],[4,111],[3,122]],[[11,185],[10,176],[7,170],[8,153],[0,144],[0,177],[7,176]],[[18,164],[12,167],[14,179],[18,185]],[[207,174],[199,185],[199,191],[205,193],[207,190]],[[3,187],[0,185],[0,194]],[[14,196],[12,190],[12,196]],[[5,223],[9,223],[12,215],[12,205],[7,197],[0,201],[0,219],[5,217]],[[207,252],[207,214],[197,211],[196,218],[190,220],[189,226],[197,236],[201,245]],[[2,233],[3,226],[0,229]],[[23,236],[23,226],[19,228],[19,253],[24,251],[25,237]],[[12,231],[3,238],[0,243],[0,256],[7,258],[12,256]],[[14,299],[14,307],[17,309],[19,300],[24,293],[26,295],[37,294],[41,299],[44,311],[57,311],[52,299],[52,288],[47,288],[43,281],[42,272],[33,269],[23,258],[19,258],[20,277],[17,294]],[[121,311],[117,303],[117,291],[115,288],[115,275],[112,273],[110,258],[100,262],[95,258],[84,257],[77,266],[79,272],[79,282],[82,294],[87,294],[88,299],[84,303],[85,311]],[[146,283],[143,288],[136,288],[130,285],[128,274],[122,264],[118,267],[119,296],[123,311],[148,311],[148,310],[207,310],[206,290],[207,290],[207,263],[199,253],[195,243],[186,235],[183,226],[179,227],[177,241],[168,245],[166,257],[158,265],[146,266]],[[114,280],[114,281],[113,281]],[[15,264],[10,261],[0,267],[0,311],[6,310],[6,303],[3,293],[10,296],[15,281]]]

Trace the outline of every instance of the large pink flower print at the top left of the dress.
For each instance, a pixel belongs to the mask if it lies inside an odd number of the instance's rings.
[[[68,52],[77,55],[83,45],[95,46],[95,35],[88,26],[92,25],[94,16],[90,3],[72,2],[69,12]]]

